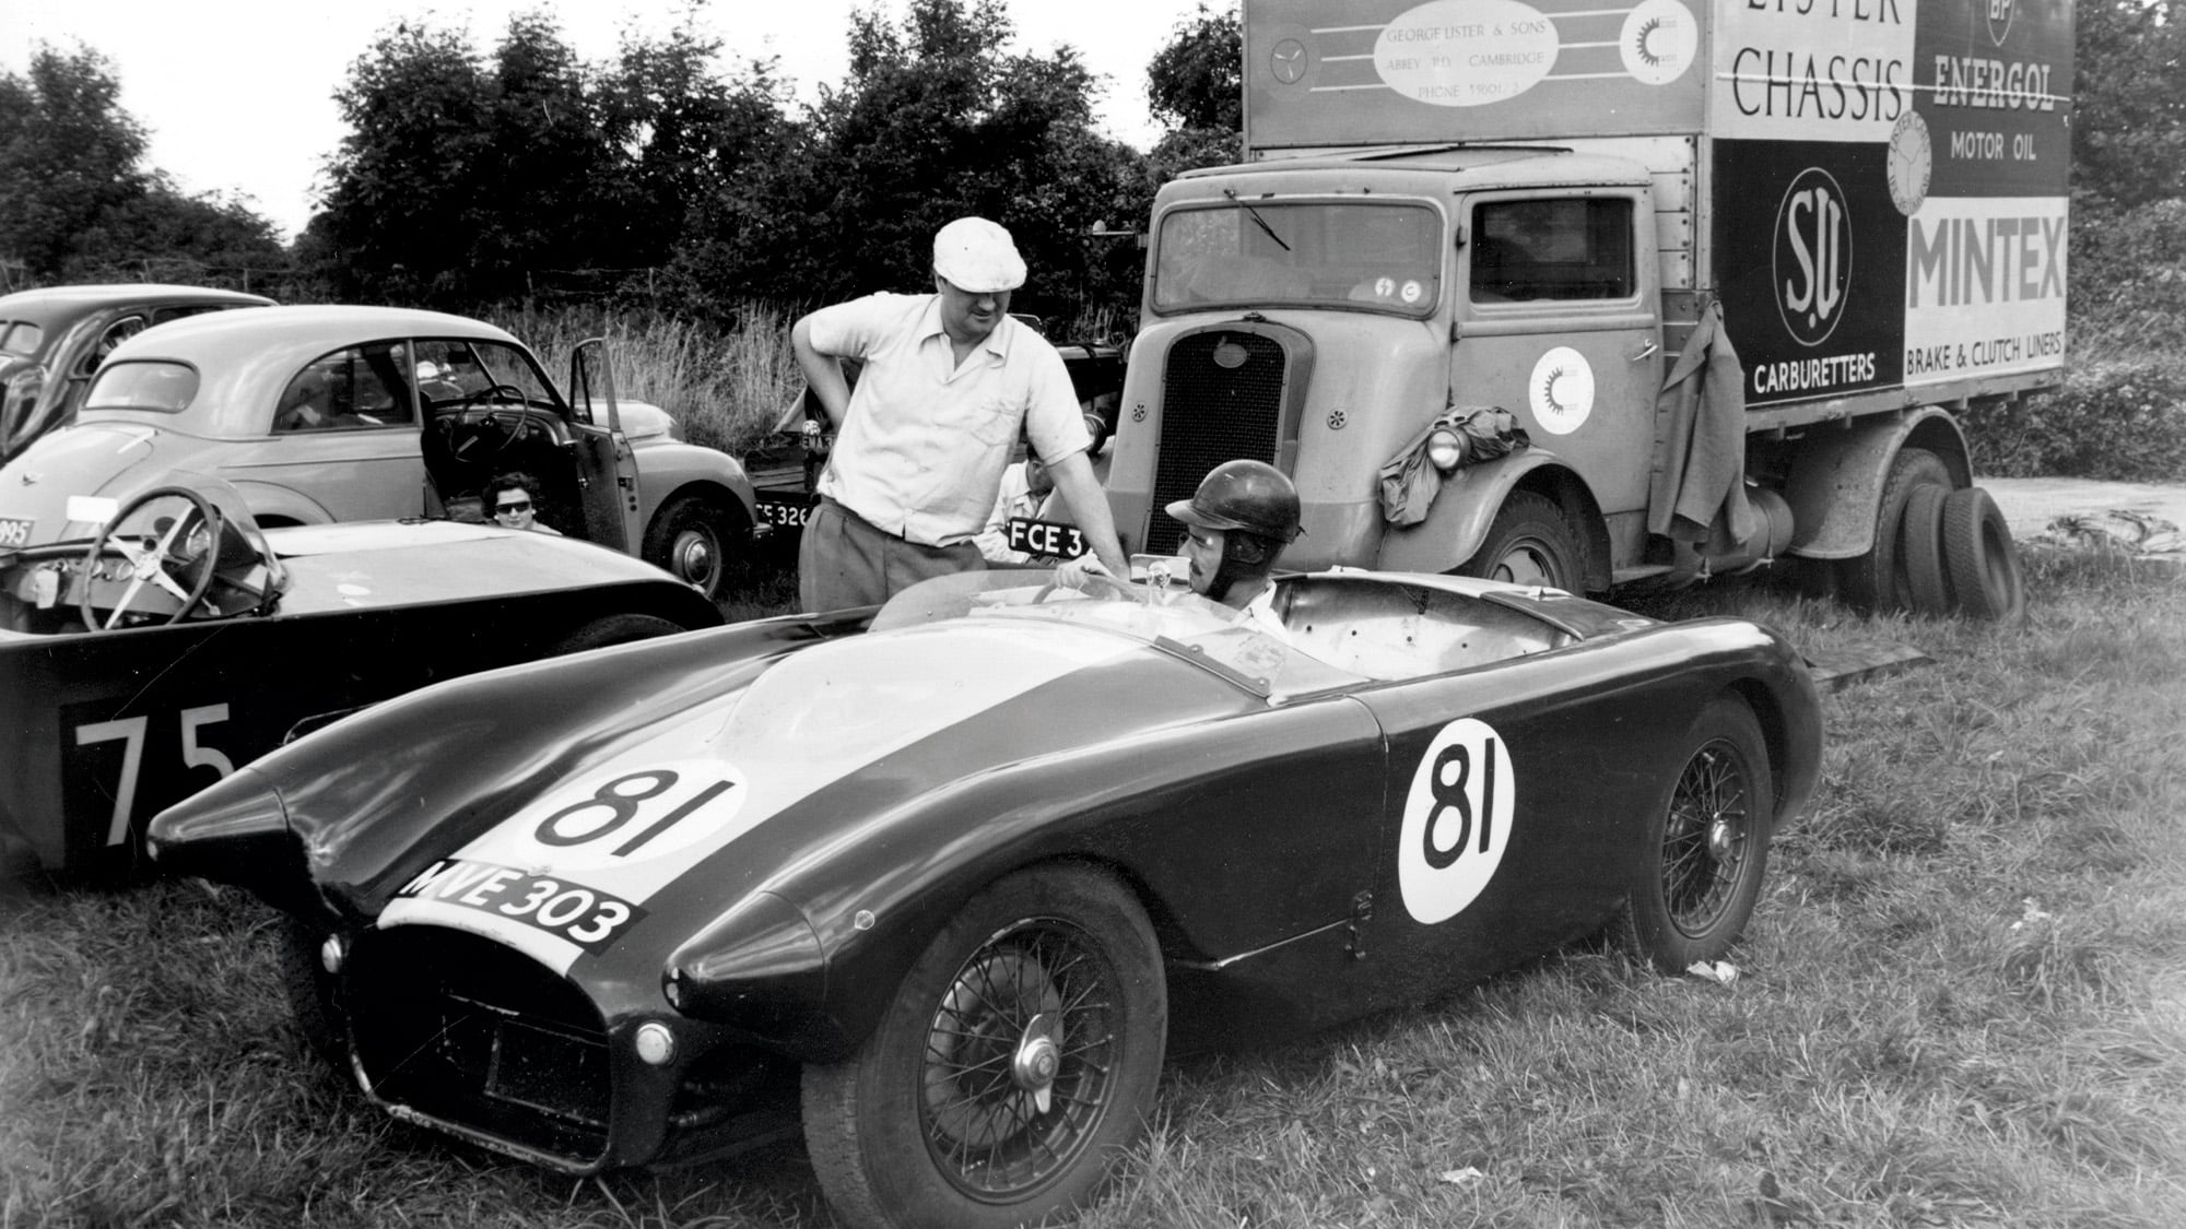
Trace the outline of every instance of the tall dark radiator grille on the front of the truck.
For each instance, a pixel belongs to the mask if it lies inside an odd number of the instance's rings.
[[[1163,510],[1191,499],[1207,470],[1242,457],[1281,464],[1285,385],[1288,356],[1272,337],[1213,328],[1170,346],[1148,553],[1176,551],[1185,529]]]

